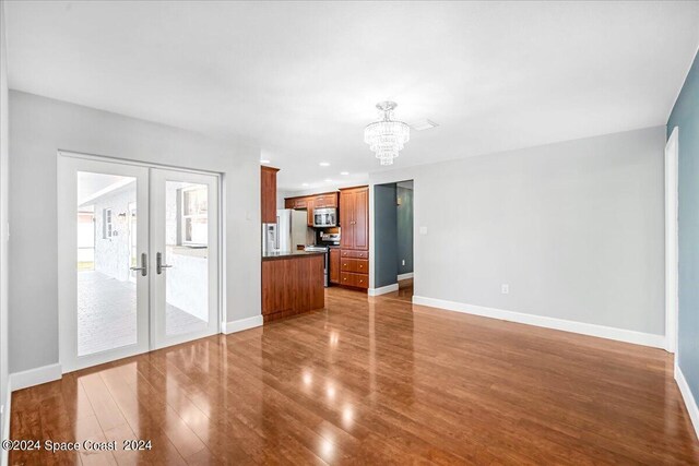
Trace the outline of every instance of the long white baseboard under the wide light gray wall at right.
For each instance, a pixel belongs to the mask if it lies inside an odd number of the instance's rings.
[[[588,324],[584,322],[547,318],[544,315],[525,314],[522,312],[506,311],[502,309],[485,308],[483,306],[472,306],[463,302],[427,298],[424,296],[413,296],[413,303],[428,306],[430,308],[447,309],[449,311],[464,312],[466,314],[481,315],[484,318],[500,319],[521,324],[561,330],[564,332],[580,333],[582,335],[596,336],[600,338],[616,339],[618,342],[633,343],[636,345],[651,346],[653,348],[665,348],[665,335],[655,335],[651,333],[636,332],[632,330]]]

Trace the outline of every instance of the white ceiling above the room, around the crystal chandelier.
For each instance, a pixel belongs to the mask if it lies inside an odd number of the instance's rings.
[[[378,170],[384,99],[439,123],[394,167],[664,124],[699,2],[9,1],[7,29],[10,87],[242,135],[293,190]]]

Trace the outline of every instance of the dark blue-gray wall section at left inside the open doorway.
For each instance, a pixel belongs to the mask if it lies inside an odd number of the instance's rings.
[[[374,224],[376,231],[375,271],[376,288],[393,285],[398,276],[398,218],[395,183],[374,188]]]

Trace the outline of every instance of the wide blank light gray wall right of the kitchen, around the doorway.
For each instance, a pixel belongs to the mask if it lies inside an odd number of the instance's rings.
[[[416,296],[662,335],[664,134],[376,172],[370,183],[414,179]]]

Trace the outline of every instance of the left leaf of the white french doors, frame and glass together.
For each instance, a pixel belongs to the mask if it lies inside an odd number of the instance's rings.
[[[147,168],[59,158],[64,370],[149,349],[147,270],[133,270],[142,254],[147,267]]]

